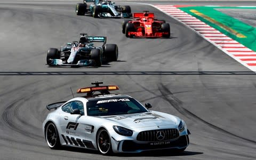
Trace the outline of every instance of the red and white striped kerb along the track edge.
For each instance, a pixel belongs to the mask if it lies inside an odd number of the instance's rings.
[[[173,5],[151,5],[182,22],[245,67],[256,72],[256,52]]]

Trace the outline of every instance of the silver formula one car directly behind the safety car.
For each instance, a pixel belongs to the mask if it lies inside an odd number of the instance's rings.
[[[50,48],[47,52],[46,62],[49,66],[101,66],[102,62],[117,61],[118,47],[116,44],[106,44],[107,37],[88,36],[80,34],[79,41],[67,43],[60,50]],[[100,47],[92,42],[103,42]]]

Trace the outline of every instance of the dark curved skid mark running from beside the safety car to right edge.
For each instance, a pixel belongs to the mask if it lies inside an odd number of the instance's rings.
[[[213,129],[215,130],[218,130],[220,132],[223,132],[223,133],[226,133],[226,134],[229,134],[229,135],[232,135],[236,138],[240,138],[240,139],[243,139],[243,140],[246,140],[246,141],[249,141],[251,143],[256,143],[256,141],[254,140],[251,140],[251,139],[247,139],[247,138],[244,138],[244,137],[241,137],[239,135],[236,135],[234,133],[231,133],[229,131],[226,131],[224,129],[221,129],[220,127],[216,126],[216,125],[213,125],[207,121],[205,121],[204,119],[198,117],[197,115],[191,113],[189,110],[187,110],[186,108],[182,107],[182,101],[180,101],[179,99],[177,99],[176,97],[174,97],[173,93],[167,89],[166,86],[164,86],[162,83],[160,84],[161,85],[161,88],[159,86],[159,91],[162,93],[163,95],[163,98],[169,102],[177,111],[179,111],[179,113],[181,113],[182,115],[186,116],[187,118],[193,118],[197,121],[201,121],[203,122],[204,124],[212,127]],[[164,90],[164,91],[163,91]],[[167,93],[167,94],[166,94]],[[165,95],[169,95],[171,98],[168,98],[166,97]]]

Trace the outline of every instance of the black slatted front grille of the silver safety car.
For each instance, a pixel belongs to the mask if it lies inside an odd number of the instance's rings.
[[[161,133],[159,133],[161,132]],[[157,135],[158,134],[158,135]],[[159,134],[162,137],[159,138]],[[158,137],[158,138],[157,138]],[[164,130],[150,130],[143,131],[137,135],[138,141],[154,142],[154,141],[165,141],[179,137],[179,131],[177,129],[164,129]]]

